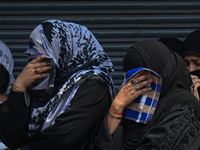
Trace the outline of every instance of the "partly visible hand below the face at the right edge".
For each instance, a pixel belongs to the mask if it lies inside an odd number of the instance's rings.
[[[194,96],[197,98],[198,101],[200,101],[199,93],[197,90],[200,87],[200,79],[195,75],[191,75],[191,78],[193,80],[193,86],[194,86],[191,87],[191,92],[194,93]]]

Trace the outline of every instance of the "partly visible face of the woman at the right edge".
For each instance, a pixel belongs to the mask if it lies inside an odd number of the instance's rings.
[[[193,54],[187,54],[184,57],[185,64],[187,66],[187,69],[189,72],[200,70],[200,57],[193,55]]]

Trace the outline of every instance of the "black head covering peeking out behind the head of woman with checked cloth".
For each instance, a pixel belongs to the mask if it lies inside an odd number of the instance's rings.
[[[174,37],[160,38],[158,41],[162,42],[169,50],[172,50],[179,55],[182,54],[182,41]]]

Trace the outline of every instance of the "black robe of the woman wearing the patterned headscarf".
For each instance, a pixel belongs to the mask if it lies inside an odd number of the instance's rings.
[[[77,91],[66,113],[44,131],[28,136],[30,108],[23,93],[11,91],[8,101],[0,105],[0,138],[10,148],[23,150],[88,150],[99,116],[110,106],[107,86],[88,80]]]

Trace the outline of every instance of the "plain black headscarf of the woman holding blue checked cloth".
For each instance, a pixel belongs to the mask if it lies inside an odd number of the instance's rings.
[[[176,103],[185,103],[200,114],[198,101],[190,92],[191,77],[183,59],[159,41],[144,40],[131,46],[123,61],[124,71],[137,67],[149,68],[162,77],[160,99],[152,120],[146,125],[139,137],[132,137],[126,147],[134,148],[141,144],[145,132],[160,122],[160,118]],[[130,140],[134,142],[130,142]],[[128,143],[128,144],[127,144]]]

